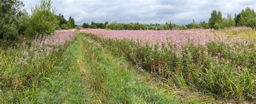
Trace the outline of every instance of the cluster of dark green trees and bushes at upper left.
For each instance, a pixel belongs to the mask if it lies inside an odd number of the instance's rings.
[[[17,40],[35,37],[36,34],[48,35],[58,29],[72,29],[75,20],[63,15],[55,15],[51,0],[42,0],[31,10],[31,15],[24,9],[21,0],[0,1],[0,38]]]

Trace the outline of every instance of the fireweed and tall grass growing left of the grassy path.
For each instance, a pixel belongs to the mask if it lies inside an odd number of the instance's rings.
[[[0,102],[25,101],[35,96],[42,81],[48,80],[49,75],[56,72],[56,61],[67,43],[75,38],[74,32],[58,30],[54,35],[37,36],[32,42],[24,41],[16,48],[1,51]]]

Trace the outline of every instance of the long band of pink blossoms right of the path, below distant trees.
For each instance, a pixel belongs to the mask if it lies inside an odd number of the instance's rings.
[[[242,30],[245,27],[235,27],[232,30]],[[246,28],[247,29],[247,28]],[[238,34],[235,38],[228,36],[221,31],[214,31],[211,29],[191,29],[191,30],[104,30],[104,29],[82,29],[84,33],[96,34],[103,38],[110,39],[127,39],[140,41],[142,44],[160,44],[161,43],[172,43],[178,46],[183,46],[187,43],[194,45],[203,45],[210,43],[211,41],[233,44],[242,43],[248,45],[255,41],[244,37],[242,34]],[[218,32],[217,34],[214,32]],[[254,45],[255,46],[255,45]]]

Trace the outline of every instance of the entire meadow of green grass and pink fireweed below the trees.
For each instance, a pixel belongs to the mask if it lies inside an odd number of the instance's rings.
[[[256,31],[58,30],[0,48],[0,102],[256,101]]]

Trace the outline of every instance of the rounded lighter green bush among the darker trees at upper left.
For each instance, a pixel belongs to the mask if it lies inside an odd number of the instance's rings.
[[[42,0],[40,5],[35,6],[25,31],[27,36],[52,34],[57,29],[59,22],[54,14],[55,10],[51,10],[51,4],[51,0]]]

